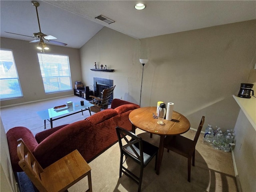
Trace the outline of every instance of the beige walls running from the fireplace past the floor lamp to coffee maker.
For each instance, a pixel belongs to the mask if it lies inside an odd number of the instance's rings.
[[[156,106],[159,100],[174,102],[174,110],[184,114],[192,128],[204,115],[204,128],[212,124],[233,129],[239,107],[232,95],[254,67],[255,31],[251,20],[137,40],[105,27],[80,49],[82,80],[92,85],[93,77],[113,79],[114,98],[138,104],[139,58],[147,58],[142,107]],[[92,72],[94,62],[115,72]]]

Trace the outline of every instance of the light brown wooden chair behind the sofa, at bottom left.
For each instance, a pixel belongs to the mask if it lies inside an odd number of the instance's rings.
[[[17,147],[19,165],[40,192],[63,192],[76,182],[88,176],[92,192],[91,168],[78,152],[74,150],[60,160],[43,169],[22,139]]]

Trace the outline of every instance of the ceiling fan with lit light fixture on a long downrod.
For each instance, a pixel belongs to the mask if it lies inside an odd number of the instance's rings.
[[[31,3],[32,3],[32,5],[34,5],[36,7],[36,15],[37,15],[37,20],[38,20],[39,32],[33,33],[34,37],[28,36],[28,35],[17,34],[17,33],[11,33],[11,32],[6,32],[6,33],[36,38],[36,40],[30,41],[30,43],[38,42],[38,48],[39,49],[40,48],[41,49],[48,49],[44,40],[46,40],[48,42],[51,42],[51,43],[54,43],[54,44],[66,46],[67,45],[66,43],[62,43],[62,42],[58,42],[58,41],[53,40],[53,39],[56,39],[56,37],[51,36],[51,35],[46,35],[46,34],[41,32],[41,27],[40,27],[40,22],[39,22],[39,17],[38,17],[38,11],[37,11],[37,8],[39,7],[40,4],[37,1],[32,1]]]

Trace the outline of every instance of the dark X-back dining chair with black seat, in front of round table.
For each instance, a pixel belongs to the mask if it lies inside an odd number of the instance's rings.
[[[120,152],[121,152],[119,178],[121,178],[122,173],[126,174],[126,176],[130,177],[132,180],[134,180],[138,184],[139,186],[138,192],[140,192],[144,167],[148,165],[148,163],[154,158],[154,156],[156,156],[156,161],[155,161],[155,170],[156,170],[158,147],[142,140],[141,137],[138,137],[133,132],[130,132],[120,127],[116,127],[116,133],[118,136],[118,142],[119,142]],[[130,136],[132,139],[128,140],[126,136]],[[122,142],[122,138],[124,139],[123,142]],[[140,164],[139,177],[123,166],[124,155],[131,158],[136,163]]]

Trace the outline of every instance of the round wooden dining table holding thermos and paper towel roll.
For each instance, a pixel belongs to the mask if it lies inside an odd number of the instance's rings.
[[[164,125],[157,123],[158,119],[153,118],[153,113],[156,113],[156,107],[142,107],[133,110],[129,114],[129,120],[132,123],[132,132],[139,128],[150,134],[160,135],[158,159],[156,166],[156,174],[160,173],[160,166],[164,153],[164,137],[169,135],[179,135],[187,132],[190,129],[190,122],[182,114],[173,111],[172,120],[164,119]]]

